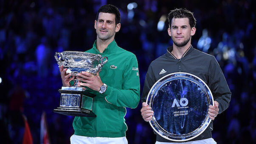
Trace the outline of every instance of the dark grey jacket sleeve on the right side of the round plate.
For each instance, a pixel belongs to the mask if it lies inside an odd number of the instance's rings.
[[[212,91],[214,100],[219,102],[219,114],[225,111],[231,100],[231,91],[228,88],[228,83],[223,75],[223,72],[215,58],[210,62],[208,69],[209,88]]]

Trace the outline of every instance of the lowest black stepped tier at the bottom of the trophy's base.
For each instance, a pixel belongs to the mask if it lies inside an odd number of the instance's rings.
[[[67,108],[55,108],[53,110],[55,113],[58,114],[64,114],[66,116],[87,116],[87,117],[96,117],[96,114],[94,114],[92,111],[85,110],[83,108],[73,108],[73,109],[67,109]]]

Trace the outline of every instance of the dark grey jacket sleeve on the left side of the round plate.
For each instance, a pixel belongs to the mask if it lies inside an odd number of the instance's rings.
[[[145,82],[143,86],[141,102],[146,102],[146,98],[149,94],[151,87],[155,84],[156,80],[153,75],[152,66],[150,64],[148,71],[146,72]]]

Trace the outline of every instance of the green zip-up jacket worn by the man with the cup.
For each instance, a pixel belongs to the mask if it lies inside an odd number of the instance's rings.
[[[73,121],[75,135],[89,137],[123,137],[127,130],[124,116],[126,108],[136,108],[140,101],[140,80],[136,56],[111,42],[103,53],[93,48],[87,53],[107,56],[108,61],[99,73],[107,90],[96,94],[93,99],[93,112],[96,117],[76,116]]]

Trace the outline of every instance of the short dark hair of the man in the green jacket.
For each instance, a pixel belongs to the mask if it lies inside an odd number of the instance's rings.
[[[121,21],[120,12],[119,12],[118,8],[113,5],[108,4],[108,5],[101,6],[98,9],[98,12],[96,15],[96,21],[98,21],[98,14],[100,12],[115,14],[115,25],[117,25]]]

